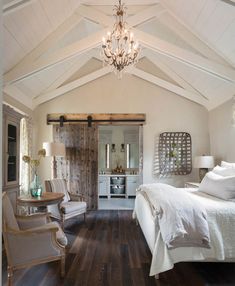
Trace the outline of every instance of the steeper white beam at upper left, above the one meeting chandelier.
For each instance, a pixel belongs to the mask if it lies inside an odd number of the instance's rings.
[[[69,31],[76,27],[82,20],[82,17],[77,14],[79,8],[53,33],[51,33],[45,40],[43,40],[35,49],[28,53],[23,60],[18,63],[13,69],[4,75],[4,81],[11,82],[19,73],[25,73],[32,63],[38,59],[43,53],[53,47],[60,39],[62,39]]]

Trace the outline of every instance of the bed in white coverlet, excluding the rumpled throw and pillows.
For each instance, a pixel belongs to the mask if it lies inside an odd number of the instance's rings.
[[[182,261],[235,262],[235,202],[221,200],[195,189],[192,192],[208,215],[211,248],[178,247],[168,249],[159,231],[158,219],[154,218],[149,202],[137,193],[134,217],[137,219],[152,253],[150,276],[170,270]]]

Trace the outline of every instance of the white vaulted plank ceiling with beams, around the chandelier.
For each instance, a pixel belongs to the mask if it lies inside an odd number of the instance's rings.
[[[3,0],[4,92],[34,109],[109,74],[101,39],[117,2]],[[235,1],[125,4],[142,48],[130,74],[208,110],[235,95]]]

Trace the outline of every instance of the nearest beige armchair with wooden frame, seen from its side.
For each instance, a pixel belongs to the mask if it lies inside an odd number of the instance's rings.
[[[64,276],[67,238],[57,222],[50,222],[48,214],[16,216],[6,193],[2,196],[2,218],[9,286],[14,270],[49,261],[60,260]]]

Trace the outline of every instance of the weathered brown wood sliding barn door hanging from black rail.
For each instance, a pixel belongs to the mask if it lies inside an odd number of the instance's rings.
[[[57,177],[68,182],[70,192],[82,194],[88,209],[97,209],[98,126],[53,126],[54,142],[66,147],[66,157],[57,158]]]

